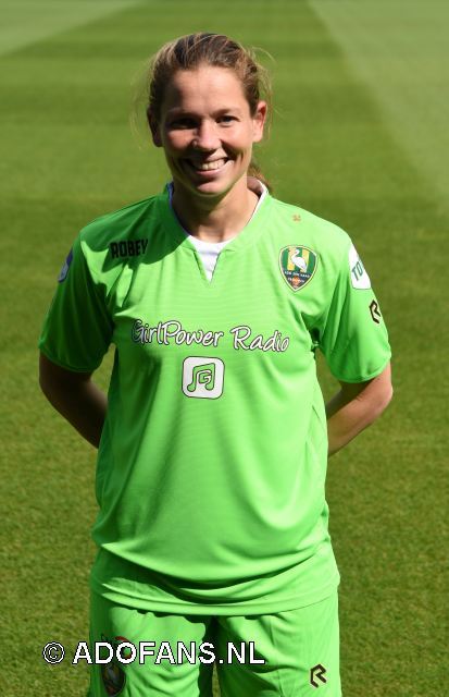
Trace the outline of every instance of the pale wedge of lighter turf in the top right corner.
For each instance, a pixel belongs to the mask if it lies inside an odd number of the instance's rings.
[[[310,4],[448,213],[449,4],[445,0],[311,0]]]

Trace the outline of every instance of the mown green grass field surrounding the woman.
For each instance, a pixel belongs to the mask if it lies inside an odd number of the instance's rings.
[[[0,11],[2,697],[85,694],[86,667],[47,665],[41,649],[59,640],[70,656],[88,638],[95,452],[40,394],[37,339],[79,228],[167,180],[161,154],[130,134],[130,82],[192,30],[274,57],[261,54],[276,113],[259,160],[277,198],[352,236],[389,330],[394,401],[328,466],[344,695],[442,697],[449,5],[0,0]],[[109,369],[110,357],[103,387]],[[328,398],[337,383],[323,362],[320,376]]]

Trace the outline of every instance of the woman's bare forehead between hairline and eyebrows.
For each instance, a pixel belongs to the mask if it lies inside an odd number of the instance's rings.
[[[167,83],[163,112],[215,111],[237,109],[249,112],[244,86],[235,72],[227,68],[203,65],[196,70],[178,70]]]

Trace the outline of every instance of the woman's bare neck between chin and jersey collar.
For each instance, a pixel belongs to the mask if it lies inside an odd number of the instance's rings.
[[[204,242],[235,237],[250,220],[258,201],[258,195],[248,188],[246,176],[221,198],[192,196],[175,182],[172,198],[183,228]]]

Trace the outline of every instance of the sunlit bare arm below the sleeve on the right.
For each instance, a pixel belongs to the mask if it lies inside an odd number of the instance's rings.
[[[391,365],[366,382],[340,382],[341,390],[326,404],[328,456],[381,416],[392,396]]]

